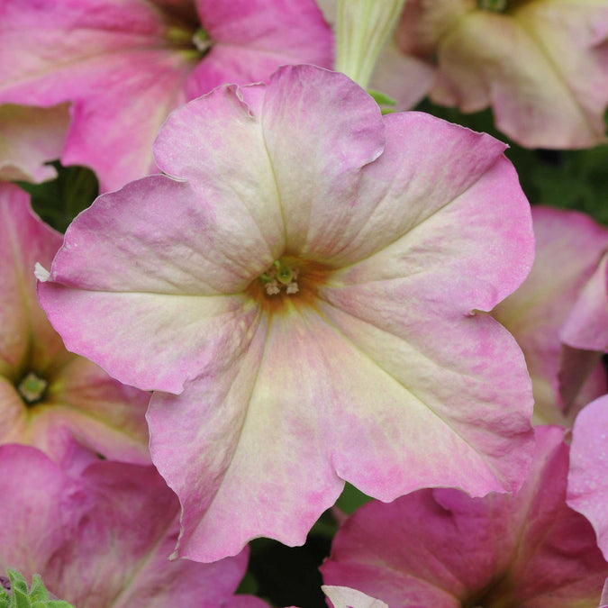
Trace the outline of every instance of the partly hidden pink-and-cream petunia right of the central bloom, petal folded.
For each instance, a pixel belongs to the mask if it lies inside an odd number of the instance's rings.
[[[492,314],[522,347],[536,422],[570,426],[581,407],[608,391],[597,352],[608,349],[605,278],[603,295],[590,292],[605,277],[608,230],[584,213],[542,206],[532,207],[532,222],[531,273]]]

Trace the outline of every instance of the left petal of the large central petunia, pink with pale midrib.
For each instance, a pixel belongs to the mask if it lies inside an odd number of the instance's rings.
[[[247,342],[259,311],[237,292],[273,257],[250,216],[226,226],[215,209],[187,183],[152,176],[81,213],[50,282],[39,286],[68,349],[126,384],[178,393],[223,351]],[[239,329],[226,340],[235,319]],[[167,349],[171,340],[181,349]]]

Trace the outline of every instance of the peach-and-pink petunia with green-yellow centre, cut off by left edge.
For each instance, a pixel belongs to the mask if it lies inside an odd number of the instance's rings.
[[[38,304],[34,266],[60,245],[28,195],[0,184],[0,444],[34,445],[66,467],[95,453],[150,462],[150,395],[68,352]]]

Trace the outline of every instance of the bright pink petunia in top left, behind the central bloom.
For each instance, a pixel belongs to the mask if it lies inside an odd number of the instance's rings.
[[[0,103],[73,102],[61,161],[113,190],[157,171],[177,105],[281,64],[329,68],[332,41],[313,0],[1,0],[0,58]]]

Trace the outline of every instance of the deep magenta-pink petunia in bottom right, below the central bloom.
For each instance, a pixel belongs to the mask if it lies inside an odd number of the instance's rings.
[[[608,563],[567,507],[563,431],[538,427],[536,439],[516,495],[424,489],[364,504],[334,537],[325,584],[391,608],[596,608]]]

